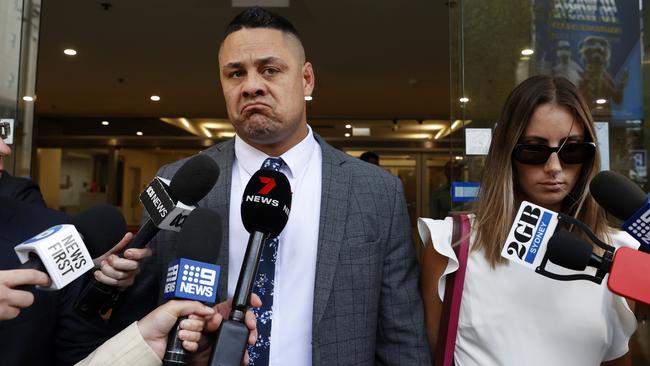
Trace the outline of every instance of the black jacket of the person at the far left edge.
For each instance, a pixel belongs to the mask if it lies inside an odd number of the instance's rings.
[[[20,265],[15,245],[68,222],[62,212],[0,196],[0,270]],[[32,290],[32,306],[15,319],[0,321],[0,364],[73,365],[101,345],[106,331],[72,309],[81,285],[77,280],[59,291]]]

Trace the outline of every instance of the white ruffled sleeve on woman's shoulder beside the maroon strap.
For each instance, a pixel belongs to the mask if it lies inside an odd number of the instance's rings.
[[[433,243],[433,249],[440,255],[449,258],[440,280],[438,281],[438,296],[440,301],[445,298],[445,282],[447,275],[458,270],[458,258],[451,247],[451,235],[454,228],[454,221],[451,217],[444,220],[433,220],[427,218],[418,218],[418,233],[422,244],[427,245],[429,240]]]

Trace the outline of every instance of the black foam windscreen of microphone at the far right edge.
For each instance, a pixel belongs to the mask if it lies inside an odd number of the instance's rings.
[[[643,206],[646,194],[638,185],[613,171],[602,171],[591,180],[589,190],[605,211],[627,220]]]

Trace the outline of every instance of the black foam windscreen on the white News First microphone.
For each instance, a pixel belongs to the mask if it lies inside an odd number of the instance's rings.
[[[108,204],[95,205],[72,218],[72,224],[83,237],[90,256],[97,258],[108,252],[126,234],[126,221],[120,210]]]

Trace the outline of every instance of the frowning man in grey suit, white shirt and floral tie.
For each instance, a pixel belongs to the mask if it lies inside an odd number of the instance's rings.
[[[273,162],[293,196],[271,270],[258,278],[270,276],[271,296],[259,292],[272,306],[258,315],[251,364],[430,364],[401,182],[332,148],[308,126],[305,96],[315,79],[296,30],[266,10],[245,10],[226,30],[219,67],[237,135],[202,152],[221,174],[198,206],[224,219],[228,245],[221,246],[218,264],[228,278],[220,294],[232,296],[246,249],[239,210],[248,179],[267,158],[279,158]],[[183,162],[158,175],[172,177]],[[133,292],[157,288],[175,246],[175,235],[158,234],[154,257],[143,263],[155,269],[142,271],[156,275],[139,276]],[[102,271],[114,274],[115,268]]]

